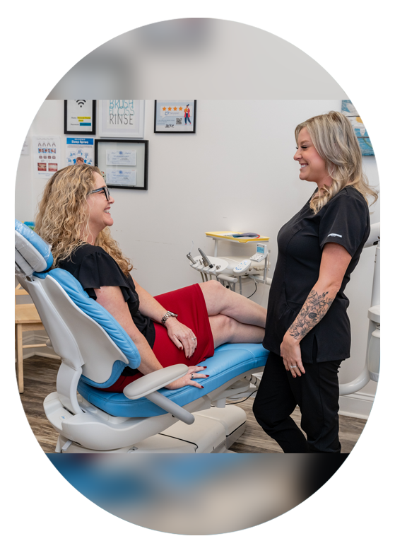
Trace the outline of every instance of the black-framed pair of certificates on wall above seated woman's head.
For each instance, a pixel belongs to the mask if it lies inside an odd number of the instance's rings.
[[[108,188],[148,190],[148,140],[96,139],[95,165]]]

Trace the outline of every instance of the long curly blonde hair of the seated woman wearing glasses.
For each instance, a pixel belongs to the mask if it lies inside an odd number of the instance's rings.
[[[93,165],[69,165],[54,173],[45,186],[38,205],[35,231],[52,245],[52,268],[86,243],[89,233],[86,197],[88,192],[95,190],[94,173],[101,175],[100,169]],[[95,245],[111,255],[126,276],[129,274],[133,265],[111,237],[110,228],[99,233]]]

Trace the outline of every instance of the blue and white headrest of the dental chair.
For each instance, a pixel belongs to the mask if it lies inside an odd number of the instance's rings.
[[[31,277],[34,272],[50,269],[53,262],[51,246],[31,228],[15,219],[16,274]]]

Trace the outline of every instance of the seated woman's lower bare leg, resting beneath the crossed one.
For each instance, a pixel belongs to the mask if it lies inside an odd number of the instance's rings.
[[[261,344],[265,329],[254,325],[244,325],[226,315],[208,317],[213,333],[214,347],[222,344]]]

